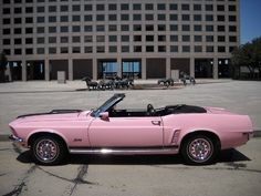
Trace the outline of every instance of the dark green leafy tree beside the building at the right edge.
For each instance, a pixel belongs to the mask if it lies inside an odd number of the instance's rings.
[[[251,42],[240,45],[232,52],[232,65],[236,71],[234,78],[241,78],[240,68],[249,70],[249,79],[261,78],[261,37]]]

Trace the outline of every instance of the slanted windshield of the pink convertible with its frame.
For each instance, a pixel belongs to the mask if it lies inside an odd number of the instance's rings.
[[[111,99],[108,99],[104,104],[102,104],[100,107],[94,110],[91,114],[93,117],[97,117],[101,112],[107,111],[111,106],[115,105],[119,101],[124,99],[125,94],[114,94]]]

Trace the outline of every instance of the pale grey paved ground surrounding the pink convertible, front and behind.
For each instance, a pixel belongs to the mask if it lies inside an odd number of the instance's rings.
[[[220,81],[178,90],[84,91],[80,81],[67,84],[28,82],[0,84],[0,135],[8,123],[27,113],[54,109],[93,109],[124,92],[123,107],[195,104],[226,107],[250,115],[261,130],[260,82]],[[258,196],[261,193],[261,138],[222,152],[210,166],[188,166],[175,156],[73,155],[59,166],[35,165],[30,152],[0,142],[0,195],[112,196]]]

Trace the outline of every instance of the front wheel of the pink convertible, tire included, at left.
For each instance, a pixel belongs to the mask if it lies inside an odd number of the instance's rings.
[[[33,158],[41,165],[56,165],[62,162],[66,149],[61,140],[54,136],[41,136],[33,142]]]

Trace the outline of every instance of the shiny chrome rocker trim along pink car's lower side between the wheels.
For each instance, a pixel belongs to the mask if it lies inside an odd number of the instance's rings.
[[[167,148],[71,148],[71,154],[116,154],[116,155],[135,155],[135,154],[176,154],[178,147]]]

